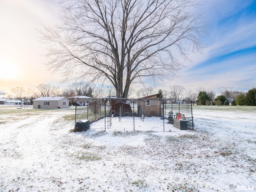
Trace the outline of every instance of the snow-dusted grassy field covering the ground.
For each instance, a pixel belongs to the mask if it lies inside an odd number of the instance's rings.
[[[194,131],[116,117],[70,132],[72,114],[0,106],[1,192],[256,190],[256,107],[194,106]]]

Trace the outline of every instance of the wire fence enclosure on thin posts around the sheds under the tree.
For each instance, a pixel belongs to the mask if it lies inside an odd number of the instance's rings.
[[[118,117],[119,121],[124,116],[139,117],[144,121],[145,117],[160,117],[168,120],[170,112],[173,114],[184,114],[186,119],[192,118],[192,103],[179,101],[174,102],[169,98],[101,98],[90,99],[84,102],[76,103],[75,122],[79,120],[90,120],[90,123],[100,118],[108,118],[111,124],[111,118]],[[106,126],[106,125],[105,125]]]

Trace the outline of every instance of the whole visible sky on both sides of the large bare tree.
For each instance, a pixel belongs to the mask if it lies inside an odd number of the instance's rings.
[[[204,53],[192,53],[192,62],[180,78],[166,81],[168,89],[177,84],[186,89],[215,90],[221,86],[247,91],[256,87],[256,1],[202,0],[198,11],[208,21],[208,45]],[[58,84],[60,76],[46,71],[46,58],[40,56],[46,45],[39,42],[35,28],[58,22],[57,0],[0,0],[0,90],[16,86],[35,88]],[[8,73],[7,71],[12,71]]]

